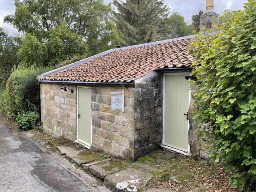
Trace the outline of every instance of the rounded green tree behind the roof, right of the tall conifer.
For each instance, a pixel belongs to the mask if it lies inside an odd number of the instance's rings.
[[[173,12],[167,19],[166,24],[168,27],[165,30],[166,33],[163,39],[192,35],[193,30],[195,30],[194,26],[186,23],[184,21],[184,16],[178,12]]]

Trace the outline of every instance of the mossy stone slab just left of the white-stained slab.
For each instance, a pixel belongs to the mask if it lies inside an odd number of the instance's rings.
[[[104,179],[106,176],[117,172],[118,166],[111,166],[111,161],[100,162],[88,167],[88,171],[95,177]]]

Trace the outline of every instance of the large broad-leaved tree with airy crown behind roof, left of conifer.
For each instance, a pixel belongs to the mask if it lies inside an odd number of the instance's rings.
[[[113,48],[120,41],[111,15],[112,7],[103,0],[14,0],[15,13],[4,21],[18,31],[46,42],[51,30],[65,23],[68,30],[83,35],[89,55]]]

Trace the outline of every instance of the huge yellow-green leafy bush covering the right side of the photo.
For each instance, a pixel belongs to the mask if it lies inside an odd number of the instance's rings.
[[[205,136],[213,143],[210,157],[224,160],[231,187],[256,186],[256,1],[245,10],[226,13],[218,32],[197,34],[192,54],[200,66],[193,72],[199,91],[194,104]],[[211,36],[212,35],[212,36]]]

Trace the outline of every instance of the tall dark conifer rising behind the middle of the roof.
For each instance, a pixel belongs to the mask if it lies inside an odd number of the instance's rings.
[[[163,0],[113,1],[117,28],[124,37],[124,45],[136,45],[161,40],[169,9]]]

